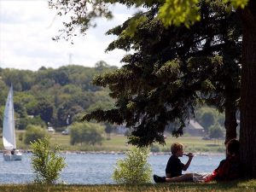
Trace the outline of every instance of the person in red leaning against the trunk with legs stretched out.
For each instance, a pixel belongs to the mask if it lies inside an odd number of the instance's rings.
[[[241,177],[241,161],[239,158],[240,143],[231,139],[226,144],[227,157],[221,160],[219,166],[212,173],[186,173],[178,177],[155,177],[155,183],[163,182],[210,182],[212,180],[227,181]]]

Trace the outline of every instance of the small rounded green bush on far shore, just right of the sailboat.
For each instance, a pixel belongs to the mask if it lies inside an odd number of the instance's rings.
[[[48,133],[44,128],[35,125],[29,125],[26,128],[24,143],[30,144],[37,141],[39,138],[49,137]]]

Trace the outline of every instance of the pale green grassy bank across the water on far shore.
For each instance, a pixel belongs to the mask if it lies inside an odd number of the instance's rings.
[[[24,144],[19,140],[20,135],[24,134],[22,131],[16,132],[17,146],[18,148],[29,150],[30,146]],[[50,134],[50,143],[52,145],[58,144],[61,150],[64,151],[106,151],[106,152],[116,152],[116,151],[126,151],[131,148],[131,145],[127,144],[127,137],[123,135],[112,134],[110,139],[104,139],[102,145],[89,146],[86,144],[70,144],[69,135],[61,135],[60,132],[55,132]],[[183,143],[184,151],[189,152],[201,152],[201,153],[223,153],[224,152],[224,141],[214,141],[214,140],[202,140],[201,137],[172,137],[168,136],[166,138],[166,145],[162,146],[154,143],[151,147],[153,152],[170,152],[170,145],[173,142]],[[0,148],[3,149],[3,140],[0,139]]]

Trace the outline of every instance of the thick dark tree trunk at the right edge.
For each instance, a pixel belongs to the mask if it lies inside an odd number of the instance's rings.
[[[241,65],[241,160],[247,177],[256,177],[256,1],[238,11],[243,25]]]

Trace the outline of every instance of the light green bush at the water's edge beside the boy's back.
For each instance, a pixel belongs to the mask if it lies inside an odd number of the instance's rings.
[[[113,171],[113,180],[119,184],[142,184],[151,182],[151,167],[148,164],[148,148],[131,148],[124,160],[118,160]]]

